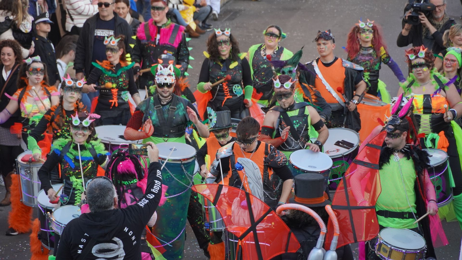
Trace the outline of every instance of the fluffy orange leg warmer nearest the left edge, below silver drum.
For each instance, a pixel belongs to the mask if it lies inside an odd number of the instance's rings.
[[[11,211],[8,216],[8,224],[18,233],[27,233],[32,227],[32,208],[24,205],[21,198],[21,189],[19,187],[19,175],[11,175]]]

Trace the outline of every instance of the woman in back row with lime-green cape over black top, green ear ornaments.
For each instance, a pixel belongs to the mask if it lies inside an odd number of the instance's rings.
[[[268,62],[268,55],[271,61],[285,61],[290,59],[293,53],[279,46],[281,40],[286,38],[286,34],[278,25],[269,25],[263,31],[263,35],[265,43],[252,45],[246,58],[250,63],[253,87],[257,96],[261,95],[259,103],[266,105],[273,93],[273,80],[271,79],[274,76],[271,64]]]

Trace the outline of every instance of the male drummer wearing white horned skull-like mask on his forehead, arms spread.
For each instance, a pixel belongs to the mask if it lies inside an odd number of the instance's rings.
[[[165,67],[164,67],[165,66]],[[186,143],[185,130],[194,124],[200,136],[208,137],[209,130],[199,120],[200,116],[191,102],[173,93],[176,75],[181,72],[173,64],[152,66],[156,75],[157,93],[143,100],[128,121],[124,137],[144,142]],[[138,131],[142,127],[141,131]]]

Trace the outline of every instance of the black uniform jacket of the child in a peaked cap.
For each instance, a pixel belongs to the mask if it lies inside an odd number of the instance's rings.
[[[35,48],[31,57],[38,55],[42,62],[47,65],[48,84],[53,86],[56,80],[61,81],[56,65],[55,47],[49,39],[39,35],[36,35],[33,41],[35,43]]]

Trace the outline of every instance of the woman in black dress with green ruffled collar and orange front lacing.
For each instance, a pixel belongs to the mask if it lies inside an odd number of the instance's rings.
[[[135,64],[127,62],[123,38],[105,38],[107,60],[91,63],[95,68],[84,85],[84,93],[99,89],[98,103],[94,109],[101,116],[98,125],[127,125],[131,117],[128,93],[136,105],[141,102],[132,70]]]

